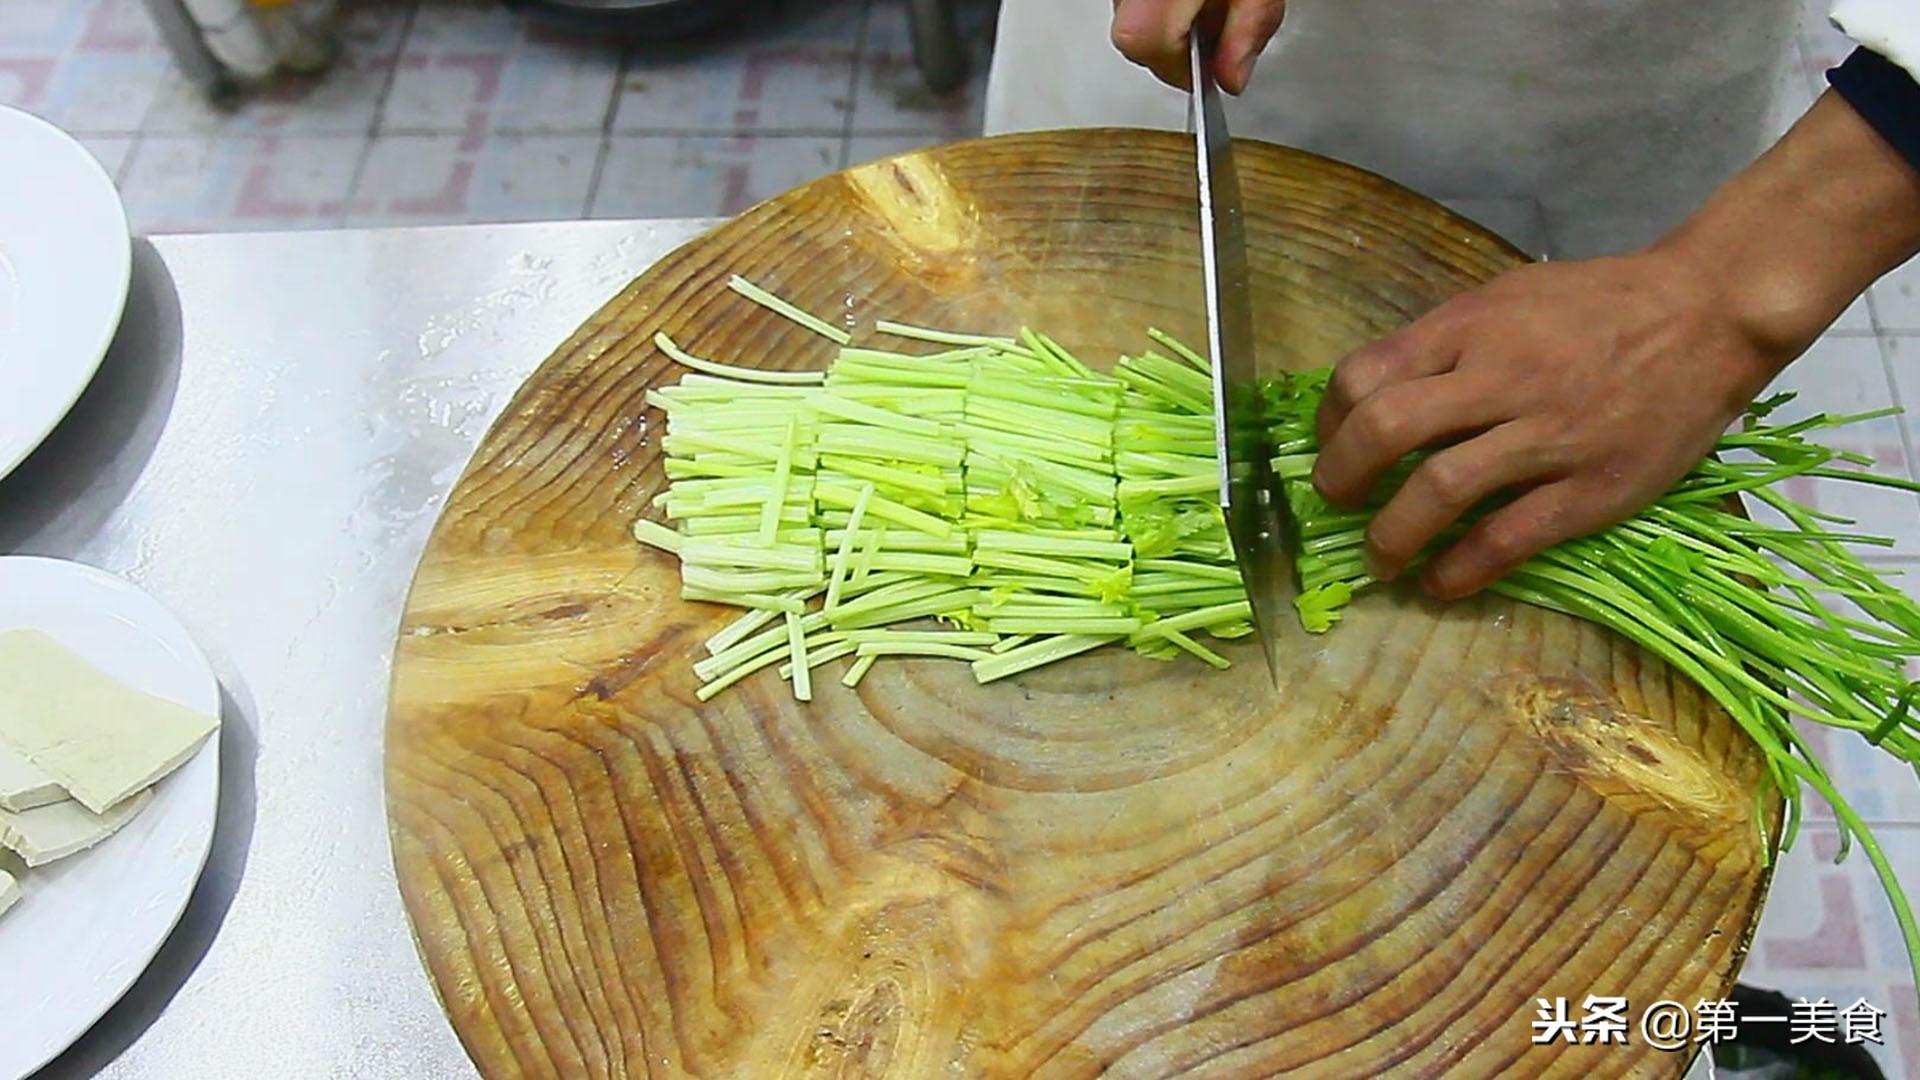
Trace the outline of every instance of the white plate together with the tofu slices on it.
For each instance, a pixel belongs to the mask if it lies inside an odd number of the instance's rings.
[[[173,932],[213,842],[219,715],[157,601],[0,557],[0,1080],[71,1045]]]

